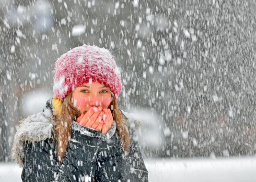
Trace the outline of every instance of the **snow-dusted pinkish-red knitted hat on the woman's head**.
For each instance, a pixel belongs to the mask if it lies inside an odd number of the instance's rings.
[[[63,100],[77,86],[99,82],[108,86],[115,99],[121,90],[121,75],[109,50],[83,45],[63,54],[55,63],[54,95]]]

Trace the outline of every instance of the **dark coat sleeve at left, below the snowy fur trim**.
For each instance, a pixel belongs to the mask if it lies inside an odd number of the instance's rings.
[[[22,181],[68,181],[59,171],[59,163],[54,154],[54,147],[49,139],[38,142],[26,142],[24,146]]]

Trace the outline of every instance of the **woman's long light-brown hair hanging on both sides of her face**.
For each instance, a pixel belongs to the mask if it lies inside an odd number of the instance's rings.
[[[80,116],[80,112],[72,103],[72,93],[69,93],[63,101],[53,98],[53,138],[57,148],[57,158],[61,163],[68,147],[68,141],[72,137],[72,121]],[[130,147],[130,134],[127,129],[127,122],[123,113],[119,110],[117,100],[113,96],[109,109],[113,115],[113,120],[117,124],[117,131],[123,149],[128,151]]]

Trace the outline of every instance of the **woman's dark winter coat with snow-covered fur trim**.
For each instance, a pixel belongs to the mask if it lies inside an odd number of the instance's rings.
[[[103,135],[72,123],[72,138],[60,165],[52,139],[52,109],[29,116],[15,135],[13,158],[23,167],[22,181],[148,181],[134,121],[127,117],[131,144],[124,152],[114,123]],[[126,116],[128,113],[124,113]]]

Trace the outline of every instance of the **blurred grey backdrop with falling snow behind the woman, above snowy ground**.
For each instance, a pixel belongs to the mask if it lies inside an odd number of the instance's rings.
[[[152,136],[146,157],[255,155],[255,9],[251,0],[1,0],[0,161],[18,121],[52,96],[57,58],[83,44],[115,56],[119,105],[141,116],[141,138]]]

